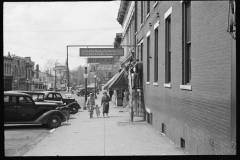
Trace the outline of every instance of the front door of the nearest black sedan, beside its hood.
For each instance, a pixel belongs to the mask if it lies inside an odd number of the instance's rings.
[[[18,97],[18,121],[34,121],[37,113],[37,105],[28,96]]]

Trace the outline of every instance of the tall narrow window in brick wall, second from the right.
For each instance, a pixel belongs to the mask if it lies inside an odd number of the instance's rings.
[[[165,83],[171,82],[171,15],[166,19]]]

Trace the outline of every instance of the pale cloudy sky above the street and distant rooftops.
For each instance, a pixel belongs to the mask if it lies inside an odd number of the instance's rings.
[[[41,70],[48,59],[65,64],[68,45],[113,45],[123,30],[119,7],[120,1],[4,2],[4,55],[31,57]],[[79,48],[68,47],[70,70],[85,64]]]

